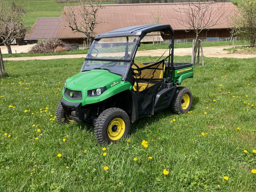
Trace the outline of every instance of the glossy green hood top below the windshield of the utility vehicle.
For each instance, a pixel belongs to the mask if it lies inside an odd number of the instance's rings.
[[[122,77],[108,70],[93,69],[91,71],[84,71],[67,79],[67,88],[71,90],[92,90],[101,87],[111,87],[113,83],[120,83]]]

